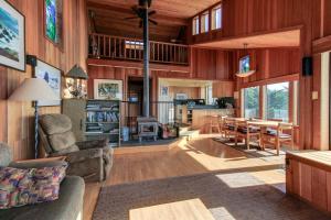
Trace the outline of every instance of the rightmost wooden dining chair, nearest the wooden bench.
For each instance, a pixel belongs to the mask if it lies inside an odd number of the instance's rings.
[[[290,143],[290,147],[295,146],[295,127],[292,123],[279,122],[277,130],[266,130],[261,132],[261,147],[265,150],[266,144],[274,145],[279,155],[282,143]]]

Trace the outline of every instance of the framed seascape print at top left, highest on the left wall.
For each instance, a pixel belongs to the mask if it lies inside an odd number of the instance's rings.
[[[0,0],[0,65],[25,72],[25,18]]]

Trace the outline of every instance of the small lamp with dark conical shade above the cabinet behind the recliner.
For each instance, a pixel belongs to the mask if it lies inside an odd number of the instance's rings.
[[[87,97],[86,72],[77,64],[65,75],[65,99],[85,99]]]

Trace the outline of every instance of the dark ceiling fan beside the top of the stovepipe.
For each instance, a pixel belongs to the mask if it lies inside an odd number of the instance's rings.
[[[142,22],[143,22],[143,18],[146,14],[146,10],[149,10],[150,6],[151,6],[151,1],[152,0],[139,0],[138,6],[134,6],[131,8],[132,12],[136,14],[136,16],[129,16],[129,18],[125,18],[125,20],[134,20],[134,19],[139,19],[139,28],[142,28]],[[151,16],[153,14],[156,14],[157,11],[152,10],[148,12],[148,16]],[[148,19],[148,21],[154,25],[158,25],[158,22],[152,20],[152,19]]]

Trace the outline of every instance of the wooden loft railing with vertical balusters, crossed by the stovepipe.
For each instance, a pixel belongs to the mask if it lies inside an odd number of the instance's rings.
[[[142,61],[141,40],[104,34],[89,35],[89,57]],[[160,64],[189,65],[189,46],[150,41],[150,62]]]

